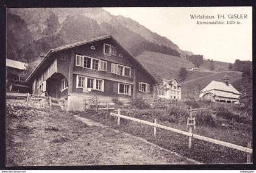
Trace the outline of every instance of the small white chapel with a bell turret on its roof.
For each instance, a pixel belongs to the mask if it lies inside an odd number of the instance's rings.
[[[200,91],[199,97],[212,102],[238,103],[241,93],[229,83],[227,75],[224,77],[224,81],[217,82],[213,80]]]

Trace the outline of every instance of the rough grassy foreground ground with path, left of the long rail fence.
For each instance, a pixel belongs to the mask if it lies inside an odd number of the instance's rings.
[[[154,144],[63,111],[7,114],[7,165],[195,164]]]

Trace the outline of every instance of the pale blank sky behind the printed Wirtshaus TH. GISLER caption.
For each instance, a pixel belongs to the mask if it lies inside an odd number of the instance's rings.
[[[104,10],[131,18],[168,38],[180,49],[204,55],[206,59],[230,63],[236,59],[252,60],[252,7],[115,7]],[[215,18],[191,19],[191,15]],[[224,15],[225,19],[218,15]],[[244,18],[230,19],[229,15]],[[197,21],[223,21],[225,24],[197,24]],[[235,24],[227,24],[227,21]]]

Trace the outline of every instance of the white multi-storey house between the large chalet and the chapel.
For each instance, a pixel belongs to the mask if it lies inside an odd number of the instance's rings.
[[[181,85],[177,79],[166,80],[160,85],[158,97],[163,99],[181,99]]]

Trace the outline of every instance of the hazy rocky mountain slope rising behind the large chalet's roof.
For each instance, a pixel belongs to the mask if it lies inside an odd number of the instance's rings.
[[[7,26],[14,23],[8,19],[9,15],[20,16],[32,36],[28,44],[32,44],[32,46],[34,42],[38,44],[37,49],[31,48],[34,53],[32,56],[43,55],[52,48],[45,45],[47,43],[44,40],[51,40],[54,42],[51,44],[58,47],[105,34],[116,36],[124,46],[127,46],[129,51],[135,50],[135,43],[143,44],[148,41],[175,49],[182,57],[187,55],[185,51],[180,50],[179,46],[167,38],[151,32],[132,19],[111,15],[102,8],[9,8],[7,9]],[[18,33],[13,32],[12,34]],[[51,39],[52,37],[57,40]],[[13,43],[11,38],[7,37],[10,44]],[[39,48],[43,44],[44,46]],[[24,48],[26,49],[26,46]],[[7,51],[9,51],[8,48]]]

